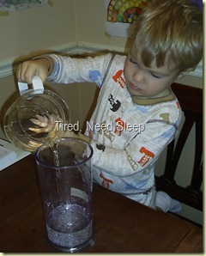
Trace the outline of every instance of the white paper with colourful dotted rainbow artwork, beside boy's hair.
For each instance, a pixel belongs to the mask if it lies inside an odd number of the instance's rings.
[[[105,0],[106,34],[131,37],[138,15],[151,0]]]

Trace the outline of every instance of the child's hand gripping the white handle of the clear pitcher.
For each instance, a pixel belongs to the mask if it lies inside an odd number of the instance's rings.
[[[16,76],[19,82],[32,84],[33,76],[39,76],[44,83],[50,69],[50,62],[46,58],[27,60],[18,65]]]

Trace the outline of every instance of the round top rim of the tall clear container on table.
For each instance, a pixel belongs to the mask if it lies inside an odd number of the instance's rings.
[[[92,148],[92,146],[89,144],[89,143],[86,143],[85,141],[83,141],[82,139],[79,139],[79,138],[73,138],[73,137],[61,137],[58,139],[58,141],[76,141],[78,143],[83,143],[85,144],[86,146],[88,146],[88,148],[90,149],[90,154],[88,155],[88,158],[86,160],[82,160],[81,162],[77,163],[77,164],[74,164],[74,165],[70,165],[70,166],[55,166],[55,165],[50,165],[50,164],[46,164],[45,162],[42,162],[39,160],[39,151],[45,147],[46,145],[51,145],[51,143],[43,143],[41,146],[39,146],[39,148],[35,151],[35,154],[34,154],[34,157],[35,157],[35,160],[36,162],[38,162],[39,164],[41,164],[42,166],[45,166],[45,167],[49,167],[49,168],[58,168],[58,169],[65,169],[65,168],[75,168],[75,167],[78,167],[78,166],[81,166],[83,163],[86,163],[88,162],[89,160],[91,160],[91,158],[93,157],[94,155],[94,149]]]

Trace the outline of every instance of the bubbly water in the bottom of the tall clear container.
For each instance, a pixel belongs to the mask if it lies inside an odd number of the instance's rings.
[[[51,211],[46,225],[49,240],[60,247],[77,247],[90,241],[92,221],[81,205],[64,204]]]

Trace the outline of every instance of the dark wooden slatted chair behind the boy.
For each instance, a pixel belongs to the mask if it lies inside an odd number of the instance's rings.
[[[203,89],[173,83],[173,92],[179,99],[185,113],[185,122],[179,131],[177,141],[167,146],[167,158],[164,174],[155,177],[157,191],[167,192],[172,198],[197,210],[203,210]],[[179,158],[185,142],[195,125],[195,157],[189,186],[179,186],[174,180]],[[187,174],[187,169],[184,170]]]

